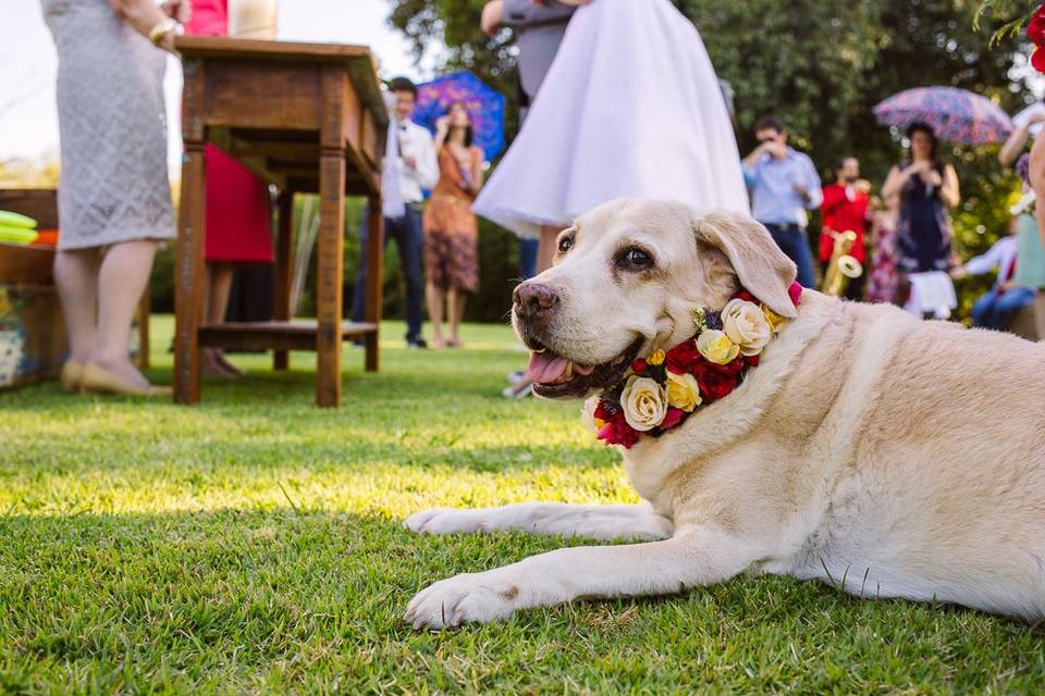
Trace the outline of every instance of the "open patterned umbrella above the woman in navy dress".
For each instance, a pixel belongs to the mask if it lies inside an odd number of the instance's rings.
[[[899,128],[926,123],[936,137],[964,145],[1004,142],[1012,133],[1012,120],[994,102],[957,87],[906,89],[876,105],[874,116]]]

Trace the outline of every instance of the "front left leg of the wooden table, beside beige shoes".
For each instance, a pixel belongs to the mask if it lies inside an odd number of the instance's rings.
[[[200,398],[199,325],[204,315],[207,169],[201,142],[186,142],[174,257],[174,401]]]

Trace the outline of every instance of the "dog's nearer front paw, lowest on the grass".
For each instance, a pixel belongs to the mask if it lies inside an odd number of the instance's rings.
[[[490,623],[515,611],[519,588],[490,573],[462,573],[417,593],[404,620],[415,629],[451,629],[465,623]]]

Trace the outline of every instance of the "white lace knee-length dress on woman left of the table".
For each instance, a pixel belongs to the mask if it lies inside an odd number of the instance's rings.
[[[42,0],[58,47],[60,249],[174,237],[167,54],[109,0]]]

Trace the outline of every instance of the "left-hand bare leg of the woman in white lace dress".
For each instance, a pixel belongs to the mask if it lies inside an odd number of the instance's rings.
[[[98,249],[59,251],[54,257],[54,284],[69,335],[69,359],[81,364],[90,359],[95,346],[100,262]]]

